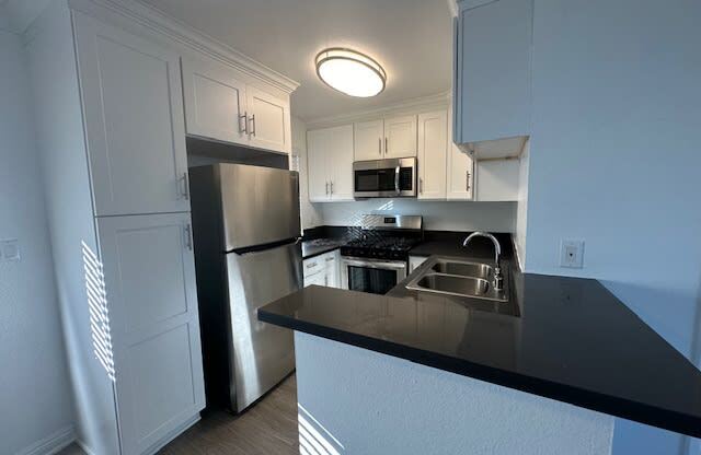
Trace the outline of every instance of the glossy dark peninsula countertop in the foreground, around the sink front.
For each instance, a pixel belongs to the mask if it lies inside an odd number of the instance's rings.
[[[701,436],[701,372],[598,281],[514,272],[512,292],[517,316],[402,285],[388,295],[312,285],[258,319]]]

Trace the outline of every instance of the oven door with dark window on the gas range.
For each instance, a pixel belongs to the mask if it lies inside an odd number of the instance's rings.
[[[406,278],[406,262],[341,258],[341,285],[350,291],[386,294]]]

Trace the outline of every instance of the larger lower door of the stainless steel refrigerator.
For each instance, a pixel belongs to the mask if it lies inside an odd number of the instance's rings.
[[[262,323],[257,308],[302,285],[301,245],[227,254],[231,409],[240,412],[295,369],[292,330]]]

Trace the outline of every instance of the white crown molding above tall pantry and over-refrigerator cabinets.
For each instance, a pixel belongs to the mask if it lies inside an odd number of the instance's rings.
[[[88,12],[87,10],[91,9],[90,7],[96,5],[117,13],[197,52],[205,54],[248,75],[260,79],[286,93],[291,93],[299,86],[299,82],[141,1],[68,0],[68,2],[71,9],[83,12]]]

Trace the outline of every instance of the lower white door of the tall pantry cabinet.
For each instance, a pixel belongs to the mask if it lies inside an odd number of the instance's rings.
[[[188,213],[97,219],[125,455],[205,406],[189,226]]]

